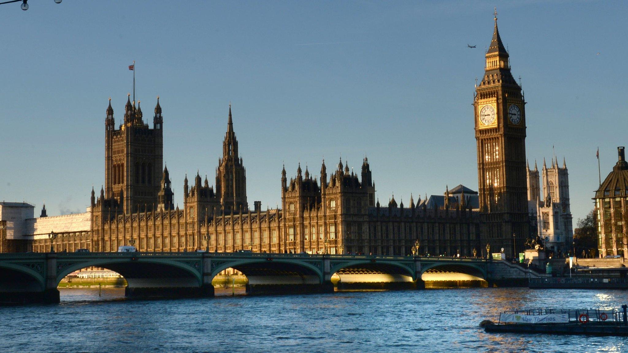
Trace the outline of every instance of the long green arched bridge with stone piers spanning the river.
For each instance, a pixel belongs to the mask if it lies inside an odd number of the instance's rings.
[[[88,267],[111,269],[136,297],[214,296],[212,280],[227,268],[246,275],[249,294],[332,292],[338,288],[425,288],[425,281],[527,285],[539,274],[501,260],[430,256],[268,253],[0,254],[0,302],[59,301],[58,283]]]

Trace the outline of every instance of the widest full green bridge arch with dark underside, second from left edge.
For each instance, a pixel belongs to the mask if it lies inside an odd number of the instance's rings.
[[[127,281],[129,296],[196,295],[203,287],[203,263],[183,263],[171,259],[104,258],[57,263],[56,285],[68,274],[88,267],[111,269]]]

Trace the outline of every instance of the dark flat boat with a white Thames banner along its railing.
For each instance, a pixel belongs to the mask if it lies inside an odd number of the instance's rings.
[[[627,308],[512,310],[480,327],[491,333],[628,336]]]

